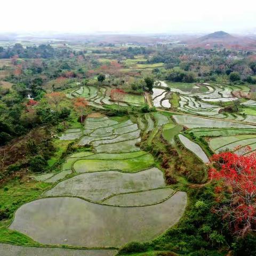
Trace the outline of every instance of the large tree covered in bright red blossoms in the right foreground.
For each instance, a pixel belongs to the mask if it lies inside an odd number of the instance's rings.
[[[238,236],[256,229],[256,153],[241,156],[230,152],[213,155],[211,179],[219,180],[215,188],[219,206],[214,209],[229,221]]]

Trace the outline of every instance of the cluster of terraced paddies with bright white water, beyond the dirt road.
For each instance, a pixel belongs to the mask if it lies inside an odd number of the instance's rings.
[[[165,83],[164,81],[156,82],[155,86],[152,99],[154,106],[157,108],[173,108],[183,113],[198,116],[256,123],[256,119],[250,114],[247,117],[242,114],[246,113],[246,108],[241,113],[220,114],[220,110],[223,108],[221,102],[232,103],[238,100],[232,92],[249,91],[249,87],[242,85]],[[171,92],[167,91],[166,87],[169,87]],[[242,105],[253,107],[256,106],[256,101],[247,100]]]

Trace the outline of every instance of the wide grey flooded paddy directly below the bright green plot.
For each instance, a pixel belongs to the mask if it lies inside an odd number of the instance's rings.
[[[78,196],[89,201],[100,202],[114,195],[151,190],[164,186],[163,173],[153,167],[138,173],[106,171],[79,174],[58,183],[57,186],[46,191],[44,196]],[[157,199],[154,202],[158,202]],[[144,202],[144,204],[147,203]]]

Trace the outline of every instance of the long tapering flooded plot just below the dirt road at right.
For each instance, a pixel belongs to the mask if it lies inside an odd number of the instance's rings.
[[[173,118],[178,124],[186,126],[188,128],[206,127],[206,128],[253,128],[256,126],[249,124],[233,123],[228,121],[220,121],[214,119],[207,119],[197,116],[188,115],[173,115]]]

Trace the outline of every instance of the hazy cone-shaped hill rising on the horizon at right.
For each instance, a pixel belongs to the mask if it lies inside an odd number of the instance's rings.
[[[205,47],[208,49],[220,46],[230,49],[256,49],[256,41],[253,38],[245,36],[233,36],[225,31],[216,31],[196,39],[188,40],[186,43],[189,47]]]

